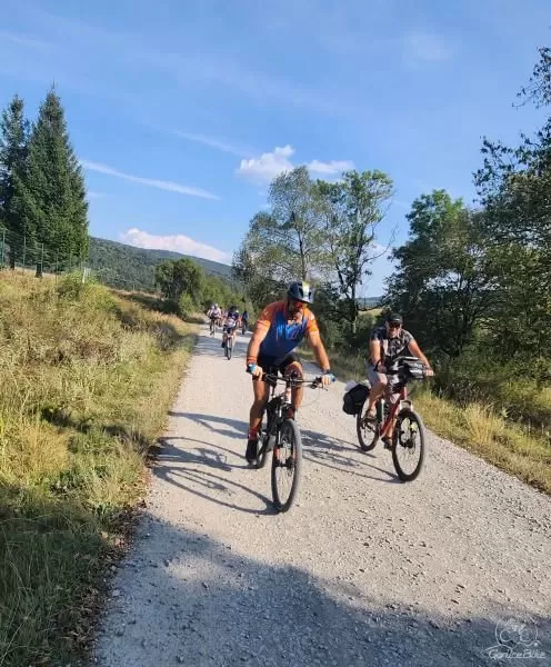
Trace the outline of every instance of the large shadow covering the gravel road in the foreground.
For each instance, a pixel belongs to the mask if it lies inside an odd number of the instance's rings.
[[[490,649],[498,645],[498,620],[527,617],[513,604],[493,600],[483,616],[469,607],[440,616],[399,597],[381,606],[375,587],[371,595],[300,567],[243,557],[230,545],[156,519],[147,518],[140,532],[131,564],[116,581],[121,594],[103,624],[108,638],[98,644],[103,667],[480,667],[497,664]],[[365,576],[377,580],[377,571]],[[538,650],[549,657],[551,624],[531,617]]]

